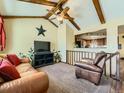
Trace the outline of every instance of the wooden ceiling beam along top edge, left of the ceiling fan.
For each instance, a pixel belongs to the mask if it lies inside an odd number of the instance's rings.
[[[56,2],[51,2],[51,1],[46,1],[46,0],[18,0],[18,1],[35,3],[35,4],[40,4],[40,5],[42,4],[42,5],[53,6],[53,7],[57,5]]]

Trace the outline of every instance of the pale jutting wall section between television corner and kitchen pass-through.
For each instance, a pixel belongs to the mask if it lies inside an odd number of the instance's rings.
[[[58,50],[62,62],[66,62],[66,50],[72,50],[74,45],[74,30],[67,24],[61,24],[58,28]]]

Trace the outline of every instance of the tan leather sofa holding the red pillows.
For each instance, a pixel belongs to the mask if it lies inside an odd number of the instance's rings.
[[[29,63],[16,69],[21,78],[0,84],[0,93],[47,93],[49,80],[45,72],[36,71]]]

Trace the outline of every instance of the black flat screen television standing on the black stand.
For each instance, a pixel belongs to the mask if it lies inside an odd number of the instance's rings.
[[[34,52],[48,52],[50,51],[50,42],[34,41]]]

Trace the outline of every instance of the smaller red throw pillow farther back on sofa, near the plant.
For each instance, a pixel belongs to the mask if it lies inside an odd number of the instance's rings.
[[[15,54],[8,54],[7,59],[15,66],[20,64],[20,59]]]

